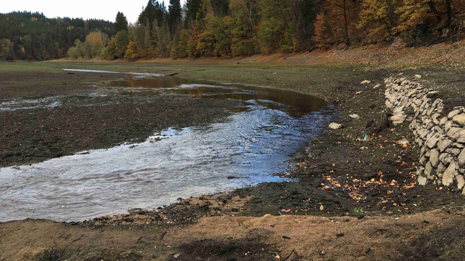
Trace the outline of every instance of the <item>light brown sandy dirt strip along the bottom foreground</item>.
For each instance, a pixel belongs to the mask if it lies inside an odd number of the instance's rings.
[[[178,226],[13,221],[0,224],[0,260],[460,260],[464,214],[222,216]]]

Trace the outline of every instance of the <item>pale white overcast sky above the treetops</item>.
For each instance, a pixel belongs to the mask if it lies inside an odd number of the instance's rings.
[[[82,17],[115,20],[118,11],[131,23],[136,22],[148,0],[0,0],[0,13],[11,11],[41,12],[47,17]],[[168,7],[169,0],[165,0]],[[182,3],[185,0],[181,0]]]

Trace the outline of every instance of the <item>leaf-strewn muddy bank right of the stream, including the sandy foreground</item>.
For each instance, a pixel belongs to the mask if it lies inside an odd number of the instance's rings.
[[[375,132],[384,109],[384,77],[420,74],[424,84],[431,85],[455,79],[440,85],[443,94],[452,97],[460,90],[463,69],[205,69],[179,76],[263,83],[315,94],[333,102],[345,128],[318,136],[295,159],[294,169],[281,174],[299,177],[300,182],[263,183],[80,223],[2,223],[0,260],[278,260],[288,255],[288,260],[453,260],[463,256],[464,198],[447,188],[416,186],[417,155],[411,146],[398,144],[411,139],[406,124]],[[370,83],[362,84],[364,80]],[[359,117],[351,118],[352,114]],[[367,122],[372,122],[368,128]],[[360,141],[365,134],[367,141]]]

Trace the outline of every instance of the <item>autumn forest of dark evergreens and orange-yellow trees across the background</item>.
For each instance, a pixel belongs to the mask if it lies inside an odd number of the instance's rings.
[[[464,27],[465,0],[149,0],[135,24],[124,13],[114,24],[1,14],[0,58],[249,56],[451,39]]]

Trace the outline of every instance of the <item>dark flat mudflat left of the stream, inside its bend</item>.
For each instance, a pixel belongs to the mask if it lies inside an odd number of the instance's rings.
[[[230,115],[228,109],[241,105],[234,100],[147,97],[138,93],[112,98],[112,94],[96,90],[97,84],[127,77],[121,74],[0,75],[0,167],[40,162],[124,142],[137,143],[169,127],[208,125]],[[47,98],[55,100],[43,104],[41,101]],[[19,105],[11,106],[11,101]]]

